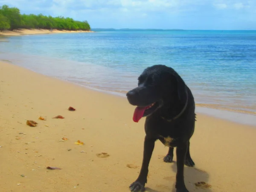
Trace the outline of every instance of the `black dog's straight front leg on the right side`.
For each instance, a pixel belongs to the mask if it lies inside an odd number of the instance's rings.
[[[179,145],[176,148],[176,156],[177,156],[177,174],[176,174],[176,192],[189,192],[186,189],[184,183],[184,160],[186,156],[188,145],[184,143],[183,145]]]

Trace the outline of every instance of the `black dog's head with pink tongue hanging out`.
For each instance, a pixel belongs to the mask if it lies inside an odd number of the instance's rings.
[[[138,87],[130,90],[127,99],[137,106],[133,120],[166,110],[186,101],[186,84],[171,67],[154,65],[146,68],[138,78]]]

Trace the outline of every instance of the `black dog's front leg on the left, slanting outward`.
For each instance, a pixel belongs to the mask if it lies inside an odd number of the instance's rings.
[[[154,150],[155,139],[145,136],[144,140],[144,151],[143,151],[143,162],[140,169],[140,175],[136,181],[131,183],[130,189],[132,192],[143,192],[145,191],[145,183],[147,183],[148,165]]]

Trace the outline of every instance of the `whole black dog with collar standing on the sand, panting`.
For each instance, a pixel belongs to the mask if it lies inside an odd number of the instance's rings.
[[[146,135],[140,175],[130,189],[132,192],[145,191],[154,143],[160,140],[169,146],[165,162],[172,162],[173,147],[177,147],[176,192],[188,192],[184,183],[184,164],[195,165],[189,153],[189,140],[195,128],[195,101],[191,90],[175,70],[165,65],[146,68],[138,81],[138,87],[126,96],[131,105],[137,106],[134,122],[147,116]]]

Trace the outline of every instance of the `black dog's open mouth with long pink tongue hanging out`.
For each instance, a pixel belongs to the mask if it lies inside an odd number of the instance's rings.
[[[133,116],[134,122],[139,122],[139,120],[143,116],[148,116],[151,113],[153,113],[157,109],[157,106],[158,106],[157,102],[154,102],[145,107],[137,106],[137,108],[135,108],[135,110],[134,110],[134,116]]]

